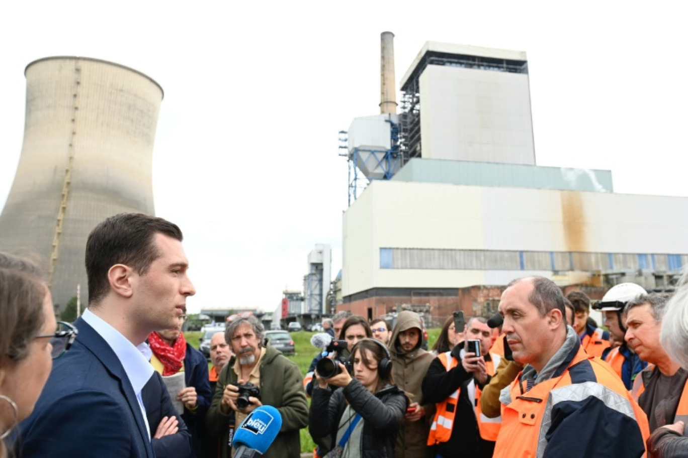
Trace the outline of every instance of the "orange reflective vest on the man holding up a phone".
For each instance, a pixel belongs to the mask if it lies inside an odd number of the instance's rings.
[[[499,365],[499,355],[491,355],[491,357],[493,360],[485,361],[485,367],[489,376],[495,375],[495,367]],[[438,358],[444,367],[447,368],[447,372],[458,365],[458,361],[451,356],[451,352],[439,354]],[[496,365],[494,361],[495,358],[497,360]],[[430,433],[428,435],[427,444],[429,446],[449,441],[454,424],[454,417],[456,415],[456,404],[459,402],[460,393],[461,389],[459,388],[451,393],[449,398],[436,404],[437,410],[435,412],[435,418],[430,426]],[[476,385],[473,405],[475,406],[475,417],[477,419],[478,429],[480,430],[480,437],[494,442],[497,440],[497,435],[499,434],[499,424],[502,422],[502,417],[488,418],[482,415],[480,410],[480,393],[482,393],[482,391]]]

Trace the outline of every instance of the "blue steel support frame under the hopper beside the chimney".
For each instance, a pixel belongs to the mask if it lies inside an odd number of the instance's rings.
[[[347,145],[347,131],[339,131],[339,149],[347,150],[346,154],[339,154],[346,156],[349,165],[349,206],[358,198],[359,189],[363,191],[365,187],[372,180],[390,180],[396,172],[402,168],[403,156],[400,152],[399,144],[399,124],[391,119],[385,119],[389,122],[389,135],[391,139],[389,150],[374,150],[369,148],[354,148],[351,153],[348,152]],[[381,178],[370,178],[361,172],[359,164],[367,165],[368,170],[376,170],[380,168],[383,171]],[[365,180],[363,185],[358,182]]]

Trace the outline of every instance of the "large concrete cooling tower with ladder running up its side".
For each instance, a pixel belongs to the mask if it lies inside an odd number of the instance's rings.
[[[123,211],[154,214],[151,165],[163,92],[136,70],[52,57],[26,67],[17,174],[0,215],[0,251],[37,253],[53,301],[86,301],[85,244]]]

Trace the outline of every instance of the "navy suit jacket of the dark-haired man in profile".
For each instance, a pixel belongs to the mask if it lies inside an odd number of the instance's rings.
[[[74,325],[78,337],[54,361],[34,412],[20,426],[17,453],[25,458],[153,458],[120,360],[86,321],[79,318]]]

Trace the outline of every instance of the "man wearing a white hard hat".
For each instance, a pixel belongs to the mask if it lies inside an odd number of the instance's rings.
[[[623,308],[628,301],[635,299],[638,295],[645,294],[645,288],[634,283],[621,283],[612,286],[604,295],[601,301],[592,306],[594,310],[599,310],[604,315],[604,324],[610,335],[617,341],[621,341],[618,347],[609,347],[602,353],[601,358],[621,377],[626,389],[632,389],[633,380],[645,369],[647,363],[641,360],[633,350],[628,347],[624,336],[626,328],[623,325],[626,316]]]

